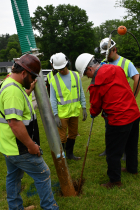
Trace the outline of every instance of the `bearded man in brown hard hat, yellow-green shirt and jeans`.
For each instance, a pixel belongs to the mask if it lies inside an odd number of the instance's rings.
[[[51,190],[50,170],[41,156],[36,114],[25,92],[33,90],[30,85],[37,81],[40,69],[36,56],[23,55],[15,59],[12,74],[0,89],[0,152],[7,165],[7,202],[11,210],[26,209],[19,195],[24,171],[34,179],[41,208],[59,209]]]

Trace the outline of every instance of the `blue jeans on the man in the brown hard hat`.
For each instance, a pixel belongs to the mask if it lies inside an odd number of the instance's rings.
[[[38,157],[29,153],[4,156],[7,165],[6,191],[9,210],[24,210],[20,196],[21,179],[24,171],[34,179],[41,208],[44,210],[59,209],[51,190],[50,169],[42,156]]]

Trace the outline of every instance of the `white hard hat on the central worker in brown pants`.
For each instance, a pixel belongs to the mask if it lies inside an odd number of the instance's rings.
[[[53,68],[63,69],[68,63],[68,59],[63,53],[56,53],[53,55]]]

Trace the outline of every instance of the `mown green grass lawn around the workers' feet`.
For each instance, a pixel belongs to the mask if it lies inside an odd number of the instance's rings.
[[[85,91],[87,101],[88,117],[85,122],[82,121],[82,113],[79,117],[79,134],[76,139],[74,154],[81,156],[82,160],[73,161],[67,160],[69,171],[73,180],[80,178],[86,145],[89,136],[91,118],[89,114],[89,92],[86,92],[90,79],[82,78],[82,84]],[[131,81],[131,86],[133,82]],[[140,95],[137,96],[137,103],[140,107]],[[52,160],[49,145],[45,136],[44,128],[41,122],[38,109],[36,110],[39,129],[41,148],[43,149],[43,157],[51,170],[52,185],[58,182],[55,166]],[[77,197],[62,197],[59,194],[59,188],[53,187],[53,191],[57,191],[54,197],[60,207],[60,210],[139,210],[140,209],[140,166],[138,166],[139,174],[131,175],[122,173],[123,187],[118,189],[107,190],[100,187],[101,183],[106,183],[109,179],[107,176],[107,163],[105,157],[99,157],[99,154],[105,149],[105,123],[104,119],[99,115],[95,118],[92,135],[89,143],[89,149],[84,169],[83,178],[85,180],[82,187],[82,194]],[[140,147],[140,144],[139,144]],[[138,155],[140,161],[140,154]],[[7,210],[6,201],[6,165],[2,154],[0,154],[0,209]],[[122,161],[122,166],[125,162]],[[36,205],[37,210],[40,210],[39,197],[33,195],[27,196],[30,186],[33,185],[33,180],[27,175],[22,179],[22,192],[24,206]],[[34,189],[33,189],[34,190]]]

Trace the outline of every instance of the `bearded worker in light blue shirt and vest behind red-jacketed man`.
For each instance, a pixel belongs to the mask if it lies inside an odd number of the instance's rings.
[[[109,38],[105,38],[105,39],[102,39],[100,42],[100,53],[105,56],[106,56],[108,41],[109,41]],[[127,81],[130,82],[130,78],[132,78],[134,80],[133,93],[135,94],[135,97],[136,97],[139,92],[139,87],[136,91],[136,87],[137,87],[138,80],[139,80],[139,73],[130,60],[123,58],[122,56],[117,54],[116,43],[112,39],[111,39],[111,46],[109,48],[108,64],[121,66],[125,72]],[[135,91],[136,91],[136,93],[135,93]],[[105,123],[107,124],[107,120]],[[101,153],[99,156],[103,156],[103,155],[106,155],[106,151]],[[124,153],[122,160],[125,160],[125,159],[126,159],[126,157],[125,157],[125,153]]]

